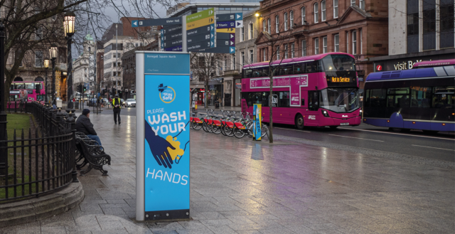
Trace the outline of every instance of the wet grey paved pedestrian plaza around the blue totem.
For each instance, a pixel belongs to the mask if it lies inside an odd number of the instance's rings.
[[[191,218],[135,218],[136,118],[91,115],[112,165],[79,179],[77,208],[0,233],[453,233],[455,174],[368,150],[191,130]],[[299,142],[300,141],[300,142]],[[404,157],[405,158],[405,157]],[[156,201],[159,202],[159,201]]]

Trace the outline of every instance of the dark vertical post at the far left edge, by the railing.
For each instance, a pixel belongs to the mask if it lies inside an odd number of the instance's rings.
[[[5,112],[5,26],[0,21],[0,141],[8,140],[6,137],[6,112]],[[0,143],[0,175],[4,175],[5,179],[8,179],[8,169],[6,168],[6,162],[8,160],[8,154],[6,152],[6,143]]]

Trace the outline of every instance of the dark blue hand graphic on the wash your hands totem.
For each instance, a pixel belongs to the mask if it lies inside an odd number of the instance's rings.
[[[163,137],[160,137],[155,134],[154,130],[151,129],[149,123],[145,120],[145,139],[149,143],[151,154],[154,156],[156,162],[159,166],[164,166],[165,168],[172,169],[171,164],[173,164],[171,154],[169,154],[168,147],[171,149],[176,149],[166,141]]]

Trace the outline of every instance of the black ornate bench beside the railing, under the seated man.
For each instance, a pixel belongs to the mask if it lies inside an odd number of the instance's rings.
[[[86,170],[81,170],[80,175],[85,176],[92,169],[97,169],[102,172],[103,176],[107,176],[107,171],[102,169],[102,166],[111,164],[111,156],[105,153],[105,149],[96,141],[90,139],[82,132],[76,132],[76,167],[82,169],[88,164]]]

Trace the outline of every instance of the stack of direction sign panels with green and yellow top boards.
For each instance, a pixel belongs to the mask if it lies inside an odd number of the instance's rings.
[[[215,9],[213,8],[186,16],[186,22],[183,26],[186,29],[187,50],[215,48],[215,25]]]

